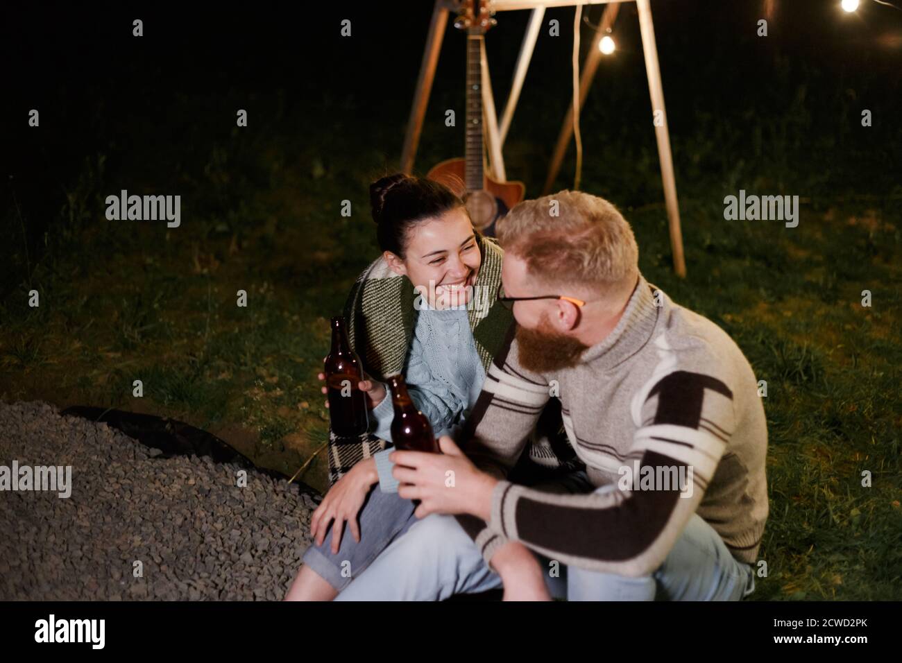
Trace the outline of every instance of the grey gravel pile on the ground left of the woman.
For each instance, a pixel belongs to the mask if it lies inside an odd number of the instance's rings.
[[[310,545],[314,498],[253,470],[239,487],[237,465],[159,454],[47,403],[0,402],[7,476],[14,461],[71,465],[68,498],[0,491],[0,600],[281,600]]]

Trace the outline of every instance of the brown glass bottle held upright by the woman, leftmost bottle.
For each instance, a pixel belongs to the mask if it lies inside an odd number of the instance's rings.
[[[364,368],[348,343],[345,318],[341,316],[332,318],[332,349],[323,372],[332,432],[341,436],[362,435],[370,427],[366,394],[357,388],[364,379]]]

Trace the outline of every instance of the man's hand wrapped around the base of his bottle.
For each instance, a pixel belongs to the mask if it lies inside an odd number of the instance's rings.
[[[413,514],[472,513],[486,522],[492,519],[492,490],[498,480],[476,469],[451,437],[438,438],[441,454],[395,451],[392,476],[400,482],[398,495],[419,500]]]

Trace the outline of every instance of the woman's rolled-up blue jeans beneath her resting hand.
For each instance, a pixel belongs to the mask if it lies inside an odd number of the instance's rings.
[[[413,502],[400,498],[398,493],[382,493],[376,483],[358,514],[360,542],[354,540],[345,522],[341,544],[337,554],[333,554],[330,525],[322,545],[310,546],[304,553],[304,564],[341,591],[362,574],[394,539],[410,529],[417,521],[413,515],[415,508]]]

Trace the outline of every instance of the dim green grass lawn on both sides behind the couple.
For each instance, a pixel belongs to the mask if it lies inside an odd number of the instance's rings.
[[[694,128],[675,133],[686,280],[671,271],[650,132],[627,129],[619,143],[586,132],[586,154],[606,158],[587,159],[584,189],[621,207],[649,281],[723,327],[767,382],[770,515],[759,557],[768,575],[755,598],[897,599],[902,191],[885,169],[854,159],[845,170],[806,170],[842,136],[802,140],[816,124],[815,102],[799,90],[788,98],[768,120],[696,109]],[[589,102],[586,118],[603,119],[601,102]],[[173,116],[206,102],[178,103]],[[324,106],[329,116],[354,116],[350,97]],[[548,157],[537,145],[556,134],[558,119],[537,115],[534,136],[511,133],[508,170],[531,195],[544,179],[537,156]],[[284,128],[308,124],[317,120],[201,131],[179,145],[161,139],[161,159],[177,165],[158,169],[167,173],[158,180],[144,181],[152,169],[121,152],[96,152],[65,187],[37,253],[17,244],[27,222],[9,210],[2,257],[16,284],[0,300],[0,397],[183,419],[286,474],[310,460],[327,436],[316,380],[327,318],[377,253],[366,190],[397,162],[400,124],[366,141],[354,131],[300,138]],[[422,146],[420,164],[459,152],[456,134],[434,126]],[[98,214],[107,192],[145,185],[183,195],[181,227]],[[804,194],[799,226],[724,221],[723,196],[740,188]],[[338,214],[344,199],[349,218]],[[32,289],[39,308],[28,306]],[[133,397],[135,380],[143,398]],[[299,478],[324,489],[326,477],[320,453]]]

